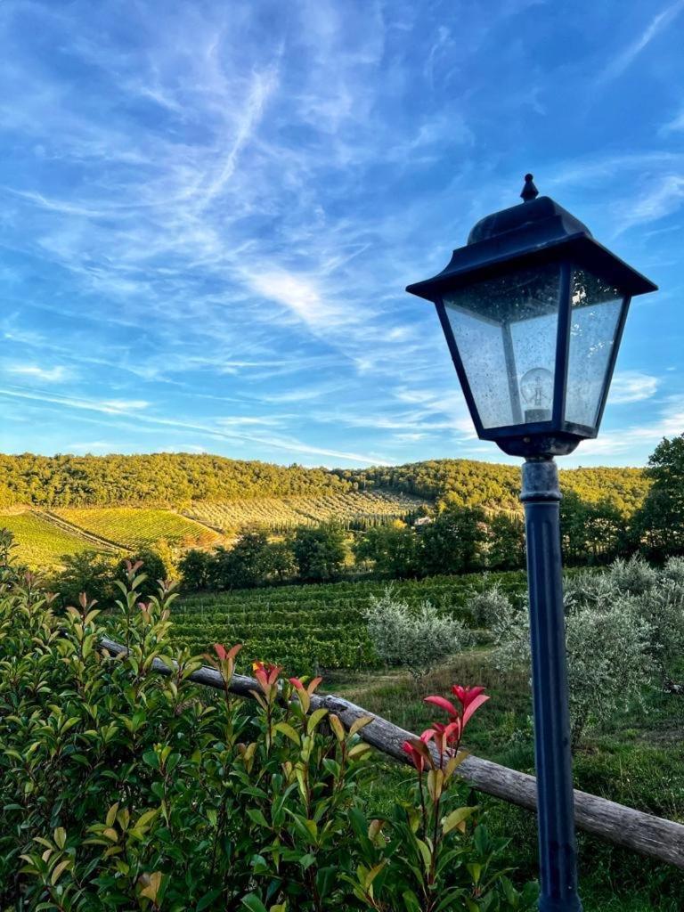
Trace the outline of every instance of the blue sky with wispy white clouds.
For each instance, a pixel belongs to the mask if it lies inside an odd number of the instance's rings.
[[[602,432],[684,430],[684,0],[3,0],[0,448],[504,461],[404,286],[541,192],[660,285]]]

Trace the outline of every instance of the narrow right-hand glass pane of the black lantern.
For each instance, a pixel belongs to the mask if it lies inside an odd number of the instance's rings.
[[[565,420],[594,430],[626,298],[585,269],[573,269]]]

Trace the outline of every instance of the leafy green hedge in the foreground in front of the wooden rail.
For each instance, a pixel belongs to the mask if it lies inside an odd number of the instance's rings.
[[[503,844],[440,795],[439,852],[412,793],[395,814],[367,814],[372,775],[358,720],[346,731],[312,705],[316,681],[257,671],[256,700],[228,689],[236,649],[214,662],[224,691],[189,679],[200,664],[168,640],[173,592],[140,599],[130,565],[104,630],[87,597],[63,616],[5,566],[0,590],[0,906],[103,912],[438,912],[531,908],[504,876]],[[171,674],[152,670],[158,661]],[[295,699],[292,699],[295,698]],[[432,787],[432,786],[430,786]],[[454,825],[452,825],[454,824]],[[457,824],[457,825],[456,825]],[[447,902],[448,901],[448,902]]]

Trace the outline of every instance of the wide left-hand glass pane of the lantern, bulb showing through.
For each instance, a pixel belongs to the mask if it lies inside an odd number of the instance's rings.
[[[443,296],[483,428],[550,421],[560,266],[518,269]]]

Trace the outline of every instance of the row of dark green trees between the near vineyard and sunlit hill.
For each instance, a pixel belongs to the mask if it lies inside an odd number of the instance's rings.
[[[561,528],[567,565],[608,565],[639,554],[662,564],[684,554],[684,435],[663,440],[645,472],[648,493],[626,515],[608,496],[565,491]],[[179,565],[189,588],[243,588],[277,582],[325,582],[349,573],[411,578],[523,568],[522,513],[462,506],[443,497],[430,515],[347,535],[336,523],[300,528],[272,540],[245,532],[233,548],[191,551]]]

